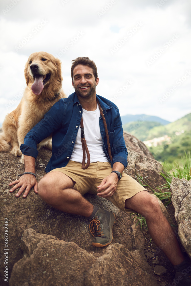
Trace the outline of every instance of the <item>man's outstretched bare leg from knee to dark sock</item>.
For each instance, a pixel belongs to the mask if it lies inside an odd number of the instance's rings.
[[[174,231],[163,215],[157,199],[147,191],[141,191],[125,201],[125,207],[143,215],[147,222],[149,234],[158,247],[160,247],[172,265],[184,261],[184,256],[178,244]]]

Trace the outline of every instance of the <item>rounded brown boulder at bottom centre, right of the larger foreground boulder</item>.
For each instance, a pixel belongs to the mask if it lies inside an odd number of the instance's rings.
[[[130,252],[123,245],[112,244],[87,271],[85,285],[153,286],[157,282],[138,251]]]

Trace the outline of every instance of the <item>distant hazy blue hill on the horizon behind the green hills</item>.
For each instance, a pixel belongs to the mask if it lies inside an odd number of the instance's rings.
[[[121,116],[121,121],[122,124],[126,124],[128,122],[133,122],[133,121],[138,121],[138,122],[152,121],[152,122],[159,122],[162,125],[170,123],[170,121],[164,120],[158,116],[151,116],[146,114],[136,114],[136,115],[127,114]]]

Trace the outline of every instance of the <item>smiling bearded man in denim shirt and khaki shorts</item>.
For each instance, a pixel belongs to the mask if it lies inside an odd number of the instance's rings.
[[[138,212],[145,216],[152,239],[163,246],[164,253],[181,275],[189,264],[157,199],[123,172],[127,167],[127,148],[119,110],[109,100],[96,95],[99,78],[95,63],[88,57],[78,57],[72,61],[71,76],[75,92],[54,104],[25,136],[20,147],[25,173],[9,184],[16,184],[10,192],[20,187],[16,196],[25,190],[25,197],[34,186],[34,191],[51,206],[88,217],[94,247],[111,243],[115,215],[93,206],[83,194],[90,192],[107,198],[126,213]],[[52,157],[46,167],[47,174],[37,183],[36,146],[50,133]],[[189,278],[186,279],[187,282],[180,284],[181,279],[177,285],[190,286]]]

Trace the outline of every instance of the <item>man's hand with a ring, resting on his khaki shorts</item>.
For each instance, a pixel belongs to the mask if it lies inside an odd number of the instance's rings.
[[[101,198],[107,198],[113,196],[116,191],[117,183],[119,179],[116,173],[112,173],[104,178],[98,188],[98,196]]]

